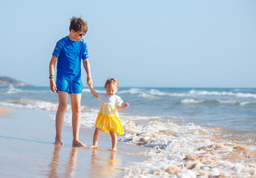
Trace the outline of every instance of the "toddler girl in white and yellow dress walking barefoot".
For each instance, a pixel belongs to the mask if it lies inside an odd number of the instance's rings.
[[[98,148],[99,135],[104,132],[109,132],[112,140],[112,149],[110,151],[117,151],[116,143],[117,136],[116,133],[122,135],[124,133],[121,121],[119,119],[118,110],[123,110],[128,108],[130,103],[125,102],[122,104],[122,99],[116,95],[118,90],[118,82],[116,79],[108,79],[105,82],[106,93],[96,93],[93,85],[89,85],[91,93],[93,96],[99,99],[100,110],[95,122],[95,131],[93,135],[93,145],[89,148]]]

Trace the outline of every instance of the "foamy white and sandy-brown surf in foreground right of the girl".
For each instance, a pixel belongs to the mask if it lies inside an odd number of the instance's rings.
[[[128,177],[255,177],[255,140],[234,139],[218,128],[152,121],[124,124],[122,142],[152,148],[150,159],[132,162]],[[250,155],[250,156],[248,156]],[[243,159],[243,162],[240,160]]]

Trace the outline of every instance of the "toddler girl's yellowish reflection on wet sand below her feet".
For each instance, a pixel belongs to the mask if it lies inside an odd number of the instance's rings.
[[[97,149],[92,149],[91,154],[91,175],[90,177],[116,177],[119,171],[116,168],[121,166],[121,162],[116,159],[116,152],[108,152],[109,159],[103,154],[99,155]]]

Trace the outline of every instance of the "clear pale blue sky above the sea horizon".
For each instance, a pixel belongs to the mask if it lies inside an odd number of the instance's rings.
[[[256,88],[255,0],[1,1],[0,76],[48,86],[72,16],[88,22],[95,87]]]

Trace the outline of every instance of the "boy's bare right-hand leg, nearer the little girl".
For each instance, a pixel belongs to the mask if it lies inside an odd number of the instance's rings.
[[[86,145],[79,141],[81,96],[81,93],[70,94],[72,108],[73,146],[76,147],[86,147]]]

